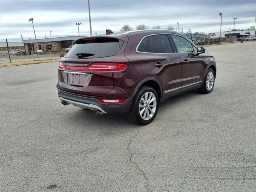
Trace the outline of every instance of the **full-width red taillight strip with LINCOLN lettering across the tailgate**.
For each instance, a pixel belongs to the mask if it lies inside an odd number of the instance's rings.
[[[60,69],[76,70],[76,71],[96,71],[96,72],[114,72],[122,71],[126,68],[124,63],[93,63],[88,67],[66,66],[63,62],[59,62]]]

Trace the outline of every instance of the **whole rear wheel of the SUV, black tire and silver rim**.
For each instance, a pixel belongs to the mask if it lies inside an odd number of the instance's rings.
[[[151,102],[144,102],[144,100],[150,100]],[[156,91],[150,86],[142,86],[134,96],[132,106],[128,112],[128,118],[132,122],[141,125],[149,124],[156,117],[158,104],[159,99]],[[142,115],[140,115],[140,112]]]

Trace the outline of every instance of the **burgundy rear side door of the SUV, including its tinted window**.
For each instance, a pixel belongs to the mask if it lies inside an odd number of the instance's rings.
[[[180,93],[181,60],[174,53],[168,34],[153,34],[149,38],[149,55],[156,77],[162,84],[164,100]]]

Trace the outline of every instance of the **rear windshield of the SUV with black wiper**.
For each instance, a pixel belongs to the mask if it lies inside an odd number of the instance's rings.
[[[123,43],[124,41],[116,38],[79,39],[65,57],[80,59],[109,57],[118,54]]]

